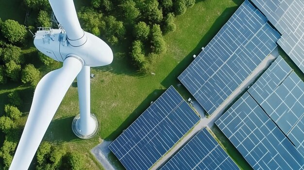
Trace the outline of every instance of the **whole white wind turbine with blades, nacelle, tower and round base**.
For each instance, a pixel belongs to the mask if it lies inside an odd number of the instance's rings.
[[[63,67],[51,71],[38,83],[28,120],[9,170],[27,170],[63,97],[77,77],[80,119],[74,119],[73,130],[81,138],[90,138],[98,128],[90,113],[90,67],[113,61],[111,48],[95,35],[81,29],[73,0],[49,0],[63,26],[36,32],[34,45]],[[76,130],[75,130],[76,129]]]

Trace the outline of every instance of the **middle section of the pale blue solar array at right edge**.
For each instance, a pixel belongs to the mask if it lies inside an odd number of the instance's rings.
[[[261,107],[278,127],[288,134],[304,114],[304,82],[292,72],[261,103]]]

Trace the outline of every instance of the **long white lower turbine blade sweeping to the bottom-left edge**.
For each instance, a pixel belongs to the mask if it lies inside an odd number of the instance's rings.
[[[28,170],[57,108],[82,67],[80,60],[68,57],[62,68],[51,71],[39,81],[9,170]]]

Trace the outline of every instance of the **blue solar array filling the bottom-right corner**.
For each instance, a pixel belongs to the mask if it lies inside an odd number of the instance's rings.
[[[254,170],[303,170],[304,157],[245,93],[216,124]]]

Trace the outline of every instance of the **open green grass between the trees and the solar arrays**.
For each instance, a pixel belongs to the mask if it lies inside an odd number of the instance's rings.
[[[116,139],[149,107],[150,102],[156,100],[170,85],[173,85],[185,98],[189,97],[190,94],[185,88],[177,86],[177,77],[192,62],[193,54],[197,55],[202,46],[208,44],[242,1],[197,0],[186,14],[178,16],[176,31],[165,36],[167,52],[159,56],[157,62],[152,65],[155,76],[138,74],[130,59],[126,57],[127,54],[124,52],[126,47],[113,48],[114,61],[111,65],[91,69],[96,75],[91,79],[91,111],[100,121],[98,135],[92,139],[82,140],[72,133],[71,123],[79,112],[77,88],[72,85],[55,114],[44,140],[86,155],[87,169],[102,169],[90,155],[90,149],[99,144],[101,139]],[[10,2],[5,1],[5,3]],[[76,4],[76,6],[79,8],[81,5]],[[1,5],[0,8],[2,9],[3,6]],[[0,10],[2,20],[5,19],[3,15],[5,12]],[[6,19],[22,21],[21,16],[13,14],[11,16],[7,16]],[[51,68],[41,68],[41,70],[47,73]],[[25,106],[22,111],[25,113],[29,111],[33,90],[19,84],[9,84],[0,86],[0,113],[7,102],[7,93],[14,90],[23,94]],[[24,124],[25,120],[26,116],[20,124]],[[242,163],[239,165],[242,166]]]

